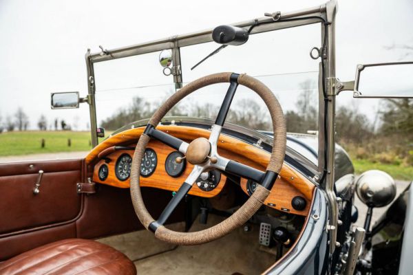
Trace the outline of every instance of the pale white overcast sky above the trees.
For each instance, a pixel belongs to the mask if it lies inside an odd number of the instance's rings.
[[[202,5],[201,5],[202,3]],[[324,1],[21,1],[0,0],[0,115],[12,115],[23,107],[36,127],[43,113],[50,120],[64,118],[84,129],[88,107],[78,110],[51,110],[52,91],[80,91],[87,94],[84,55],[98,45],[108,50],[174,34],[184,34],[225,23],[262,17],[264,12],[288,12],[319,5]],[[358,63],[413,60],[404,50],[388,50],[391,45],[413,45],[413,1],[339,2],[336,25],[337,77],[352,80]],[[227,47],[194,72],[189,67],[214,50],[207,43],[182,49],[184,81],[205,74],[231,70],[265,80],[286,109],[294,100],[287,92],[306,78],[317,80],[318,61],[308,56],[320,46],[319,24],[282,30],[275,34],[251,36],[240,47]],[[155,89],[123,89],[141,85],[171,83],[162,76],[158,53],[96,65],[98,122],[125,106],[134,95],[163,99],[171,86]],[[287,74],[306,72],[303,74]],[[122,88],[122,89],[120,89]],[[109,91],[108,91],[109,90]],[[162,93],[156,94],[157,91]],[[223,94],[222,94],[223,96]],[[238,98],[247,96],[240,93]],[[357,100],[341,94],[339,104],[352,104],[370,118],[377,100]],[[165,96],[163,96],[165,97]],[[118,98],[118,100],[116,100]],[[198,99],[215,101],[215,94]]]

